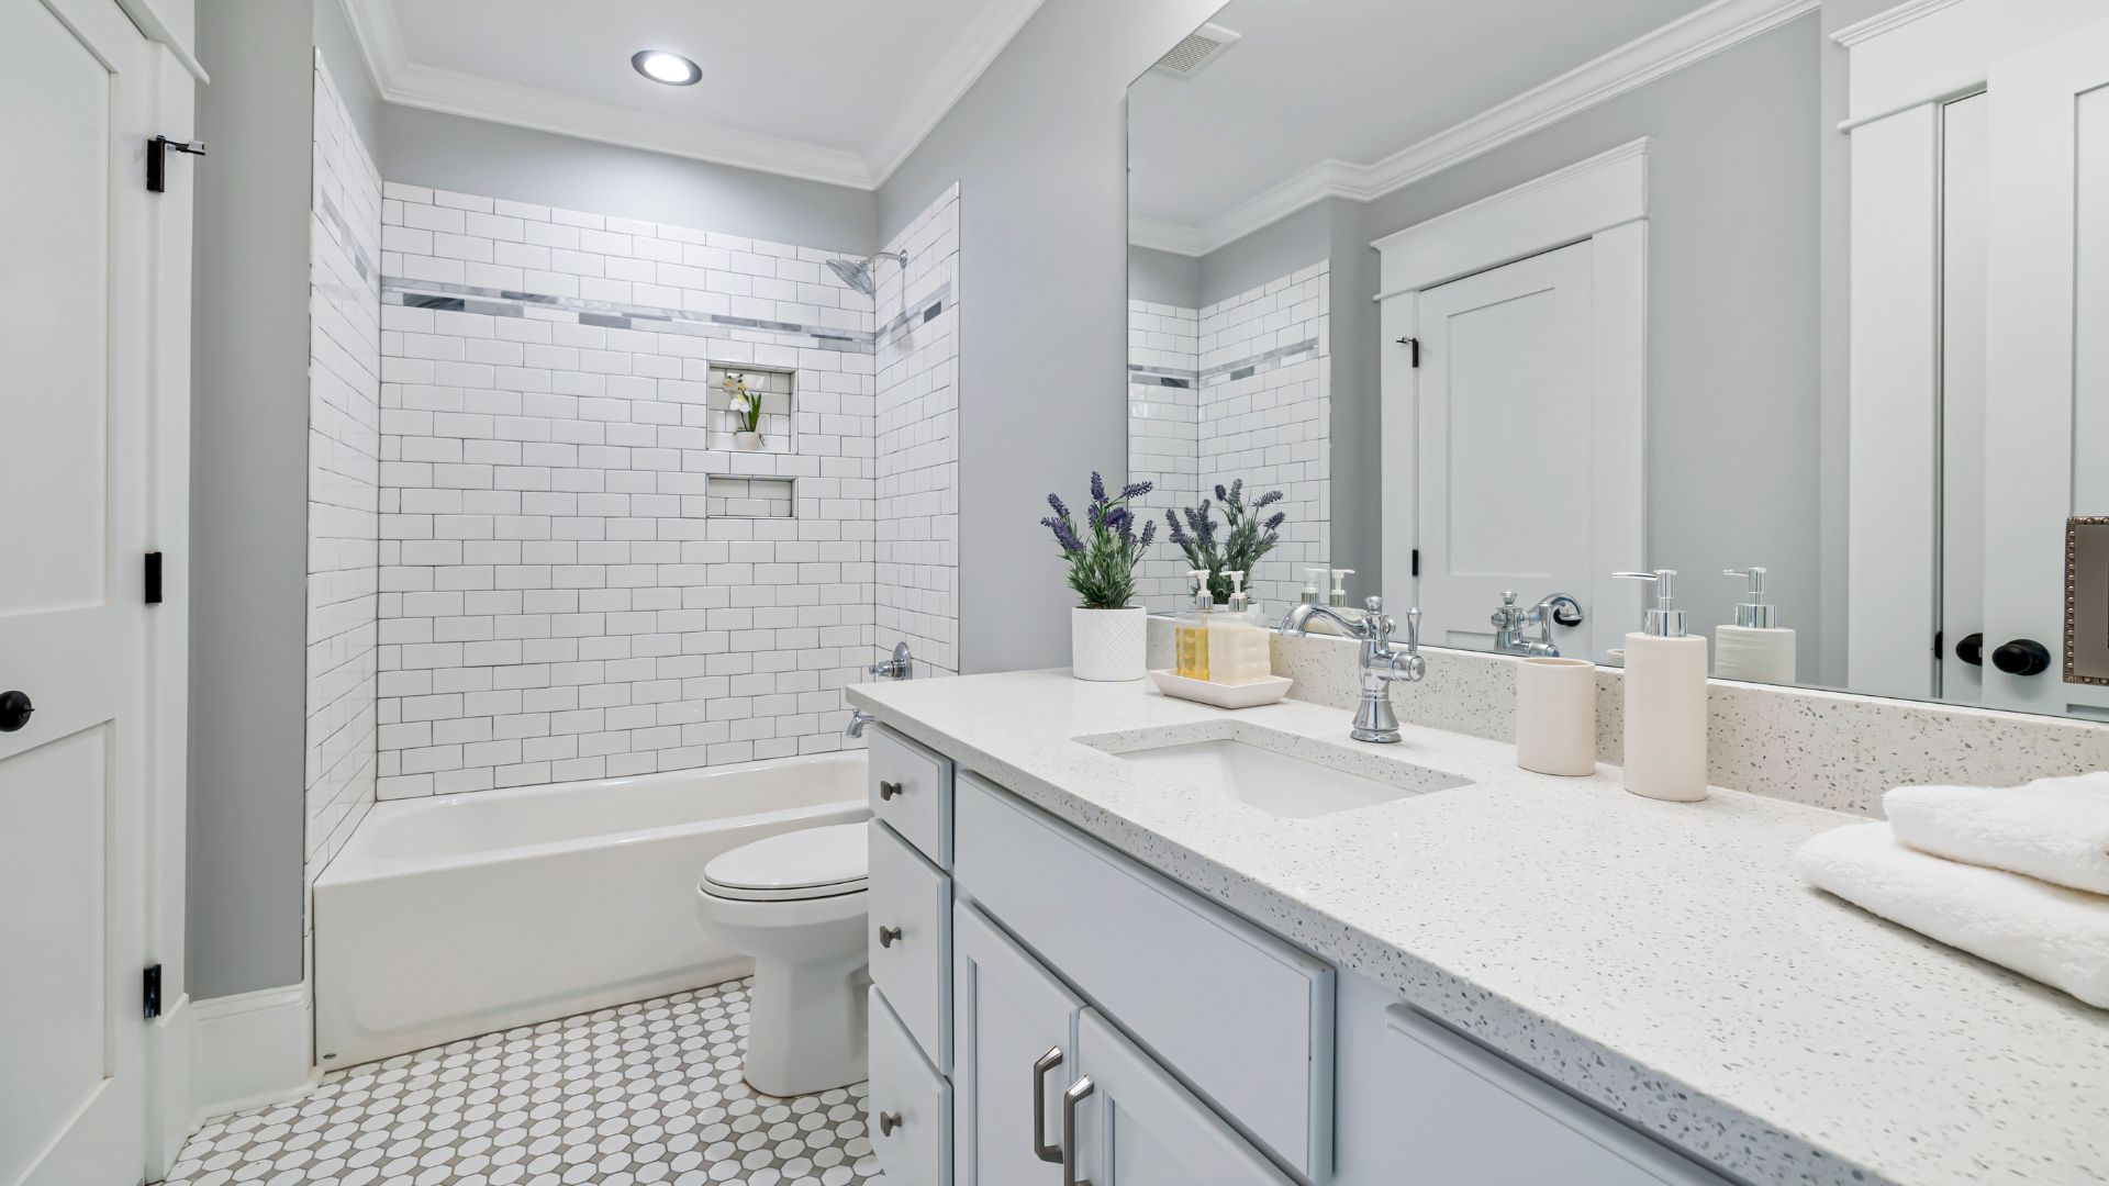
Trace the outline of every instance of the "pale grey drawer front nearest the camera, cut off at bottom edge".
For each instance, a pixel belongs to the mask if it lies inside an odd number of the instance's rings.
[[[1398,1097],[1386,1140],[1428,1182],[1474,1186],[1729,1186],[1618,1116],[1409,1007],[1386,1011]]]

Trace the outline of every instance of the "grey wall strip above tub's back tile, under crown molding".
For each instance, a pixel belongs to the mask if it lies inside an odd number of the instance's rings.
[[[721,230],[804,247],[877,251],[869,190],[823,186],[388,103],[382,177],[464,194]],[[936,196],[936,194],[932,194]]]

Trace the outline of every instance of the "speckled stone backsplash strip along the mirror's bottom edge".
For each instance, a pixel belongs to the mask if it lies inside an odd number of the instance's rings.
[[[1170,667],[1170,646],[1173,620],[1149,618],[1149,667]],[[1426,652],[1428,677],[1392,688],[1398,720],[1514,741],[1521,658]],[[1297,682],[1293,699],[1350,711],[1356,642],[1276,635],[1274,673]],[[1599,762],[1624,755],[1622,688],[1624,671],[1597,669]],[[1898,785],[2006,787],[2109,770],[2109,724],[1713,680],[1706,749],[1717,787],[1877,817],[1883,791]]]

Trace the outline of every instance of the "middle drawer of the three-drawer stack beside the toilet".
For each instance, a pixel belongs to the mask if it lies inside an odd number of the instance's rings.
[[[871,983],[939,1074],[951,1074],[951,878],[884,823],[871,829]]]

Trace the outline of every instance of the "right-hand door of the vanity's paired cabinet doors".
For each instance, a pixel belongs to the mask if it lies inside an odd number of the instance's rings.
[[[1236,1040],[1225,1036],[1225,1040]],[[1092,1186],[1293,1186],[1095,1009],[1078,1017],[1078,1178]]]

